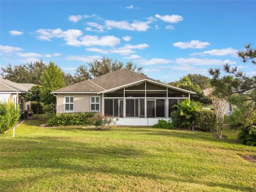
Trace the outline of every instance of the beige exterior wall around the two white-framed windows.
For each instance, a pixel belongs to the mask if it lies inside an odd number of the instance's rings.
[[[90,112],[90,100],[91,96],[99,96],[100,97],[100,111],[102,114],[102,95],[100,94],[57,94],[57,113],[67,113],[64,110],[65,105],[65,96],[73,96],[74,97],[74,111],[73,112]],[[70,113],[70,112],[69,112]]]

